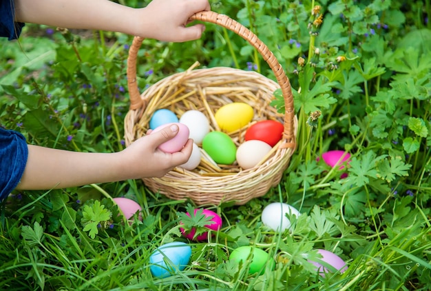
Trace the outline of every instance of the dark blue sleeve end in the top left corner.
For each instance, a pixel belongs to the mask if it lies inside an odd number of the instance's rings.
[[[15,22],[14,0],[0,0],[0,37],[18,39],[24,23]]]

